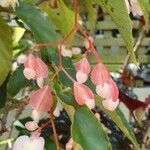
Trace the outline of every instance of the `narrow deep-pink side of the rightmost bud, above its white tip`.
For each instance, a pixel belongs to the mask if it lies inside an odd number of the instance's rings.
[[[112,79],[110,79],[109,80],[109,85],[111,86],[111,99],[113,100],[113,101],[116,101],[117,99],[118,99],[118,97],[119,97],[119,91],[118,91],[118,87],[117,87],[117,85],[116,85],[116,83],[112,80]]]

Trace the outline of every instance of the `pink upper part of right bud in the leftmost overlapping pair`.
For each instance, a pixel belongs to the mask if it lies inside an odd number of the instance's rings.
[[[47,78],[48,77],[48,67],[38,57],[36,58],[36,74],[37,74],[37,78]]]

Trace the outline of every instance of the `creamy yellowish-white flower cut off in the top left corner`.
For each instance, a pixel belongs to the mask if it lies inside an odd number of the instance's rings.
[[[16,6],[19,6],[18,0],[0,0],[0,6],[9,7],[11,6],[14,10]]]

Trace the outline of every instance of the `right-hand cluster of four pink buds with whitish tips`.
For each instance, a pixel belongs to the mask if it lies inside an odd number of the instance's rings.
[[[94,108],[94,94],[83,83],[87,80],[91,67],[86,58],[82,58],[75,64],[76,79],[74,82],[74,96],[79,105],[86,104],[90,109]],[[119,92],[115,82],[102,63],[98,63],[91,72],[91,81],[96,85],[96,93],[103,98],[103,106],[113,111],[119,104]]]

